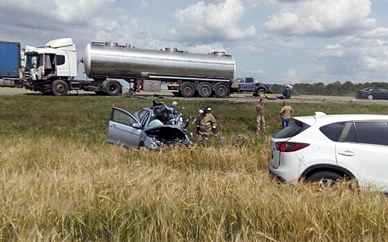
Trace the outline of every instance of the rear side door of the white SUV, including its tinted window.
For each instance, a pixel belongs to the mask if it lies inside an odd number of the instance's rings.
[[[388,122],[349,122],[345,129],[335,147],[337,164],[352,171],[360,185],[388,192]]]

